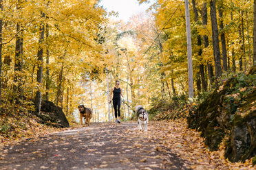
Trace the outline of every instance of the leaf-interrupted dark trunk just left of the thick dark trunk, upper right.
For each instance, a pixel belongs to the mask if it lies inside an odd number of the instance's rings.
[[[202,23],[203,25],[207,25],[207,4],[204,3],[203,12],[202,12]],[[208,36],[204,35],[204,48],[207,48],[209,46],[209,38]],[[207,62],[207,68],[208,68],[208,76],[210,80],[210,84],[213,84],[213,65],[211,62]]]

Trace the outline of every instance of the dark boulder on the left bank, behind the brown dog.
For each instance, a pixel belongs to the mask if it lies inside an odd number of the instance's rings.
[[[52,101],[42,101],[41,104],[41,123],[54,127],[70,127],[67,118],[61,107],[55,106]]]

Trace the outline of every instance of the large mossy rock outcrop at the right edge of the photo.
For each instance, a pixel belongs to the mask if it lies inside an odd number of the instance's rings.
[[[256,154],[256,69],[226,80],[198,108],[189,112],[190,128],[202,132],[206,145],[217,150],[224,136],[225,156],[233,162]]]

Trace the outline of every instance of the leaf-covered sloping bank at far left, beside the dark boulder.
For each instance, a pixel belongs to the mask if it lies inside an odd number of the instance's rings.
[[[41,119],[34,115],[34,106],[30,101],[23,101],[22,104],[7,103],[1,106],[0,143],[41,136],[55,131],[58,129],[42,124]]]

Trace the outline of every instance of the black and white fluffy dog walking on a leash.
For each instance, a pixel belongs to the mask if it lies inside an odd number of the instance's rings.
[[[135,107],[135,111],[137,112],[139,130],[147,131],[147,123],[149,123],[149,114],[147,114],[147,110],[145,110],[142,106],[138,105]]]

